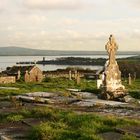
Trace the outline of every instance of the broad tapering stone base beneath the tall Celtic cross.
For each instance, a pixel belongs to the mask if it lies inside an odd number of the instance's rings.
[[[105,68],[105,79],[103,81],[101,98],[106,100],[120,100],[127,95],[127,91],[121,82],[121,72],[115,61]]]

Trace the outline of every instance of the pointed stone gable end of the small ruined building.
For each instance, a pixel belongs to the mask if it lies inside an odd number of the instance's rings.
[[[42,71],[34,66],[30,71],[26,71],[24,80],[25,82],[42,82],[44,76]]]

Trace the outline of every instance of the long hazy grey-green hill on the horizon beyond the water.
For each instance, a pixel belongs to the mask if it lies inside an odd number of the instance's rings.
[[[119,54],[140,55],[140,52],[118,52]],[[58,51],[38,50],[21,47],[0,47],[0,56],[65,56],[65,55],[104,55],[106,51]]]

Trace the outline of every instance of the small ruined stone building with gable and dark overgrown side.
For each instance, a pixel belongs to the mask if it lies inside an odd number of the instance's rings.
[[[23,79],[25,82],[41,82],[43,80],[43,73],[36,65],[7,67],[3,73],[15,76],[16,80]]]

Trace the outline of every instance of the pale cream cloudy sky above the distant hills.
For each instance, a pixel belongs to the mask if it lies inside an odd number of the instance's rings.
[[[140,0],[0,0],[0,47],[140,51]]]

